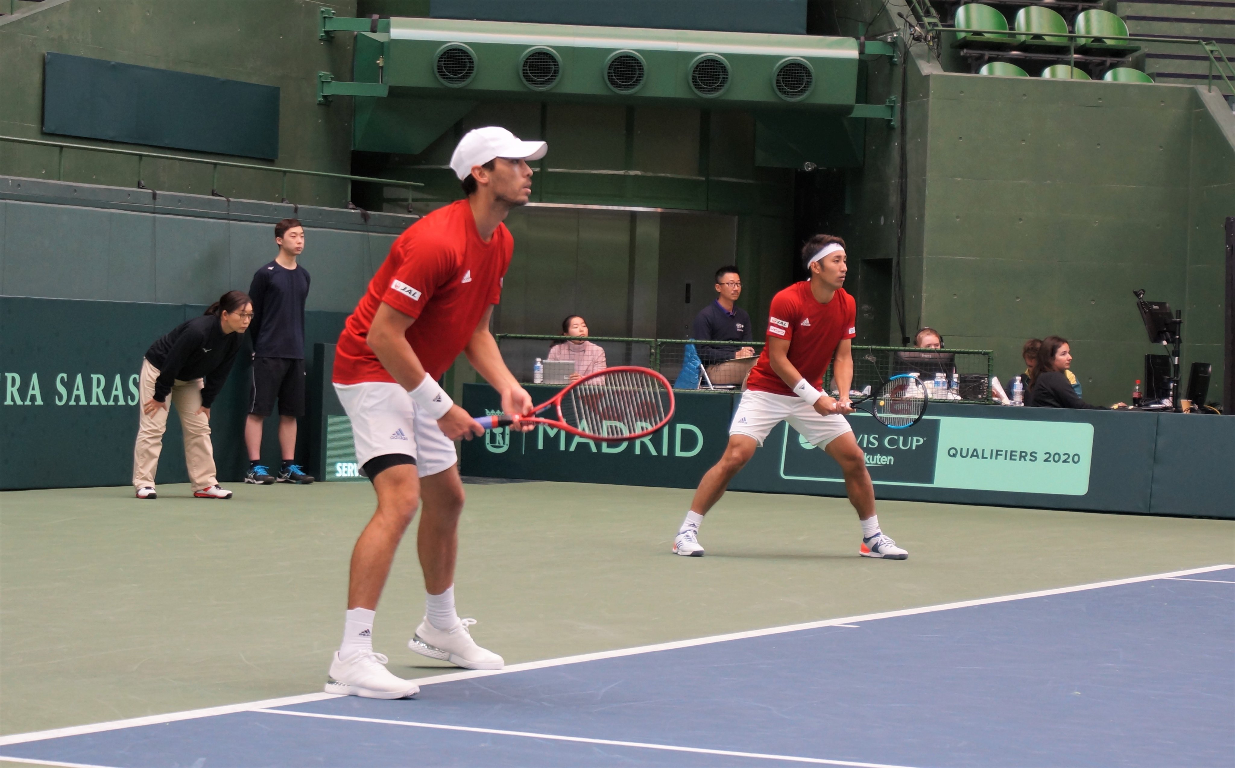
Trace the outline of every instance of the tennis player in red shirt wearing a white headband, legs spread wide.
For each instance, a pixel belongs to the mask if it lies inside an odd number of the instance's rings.
[[[815,235],[802,249],[809,280],[795,283],[772,298],[767,344],[746,379],[746,391],[729,426],[729,446],[715,467],[703,475],[690,511],[673,540],[673,552],[703,556],[699,525],[725,494],[725,488],[755,449],[782,421],[811,445],[836,459],[845,474],[845,490],[862,522],[863,557],[903,561],[909,553],[879,530],[874,514],[874,486],[866,470],[866,454],[853,438],[845,414],[852,414],[850,383],[855,327],[853,296],[845,284],[845,241]],[[832,364],[840,399],[819,391],[824,372]]]

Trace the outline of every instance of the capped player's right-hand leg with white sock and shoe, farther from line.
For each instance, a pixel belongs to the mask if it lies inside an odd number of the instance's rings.
[[[425,620],[408,647],[430,658],[468,669],[501,669],[500,656],[475,645],[468,627],[474,619],[459,619],[454,610],[454,562],[458,557],[463,482],[458,465],[420,479],[425,505],[416,532],[416,552],[425,574]]]

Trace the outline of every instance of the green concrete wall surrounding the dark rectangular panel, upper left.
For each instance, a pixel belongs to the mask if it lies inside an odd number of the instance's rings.
[[[354,0],[46,0],[0,17],[0,135],[41,135],[43,53],[52,51],[259,83],[280,88],[279,157],[284,168],[348,173],[350,99],[316,104],[316,73],[352,68],[350,35],[317,40],[317,9],[354,15]],[[73,143],[104,144],[90,140]],[[109,144],[138,149],[133,144]],[[167,149],[152,149],[168,153]],[[172,151],[172,154],[200,153]],[[219,157],[219,156],[214,156]],[[246,161],[224,157],[221,159]],[[261,161],[246,161],[257,162]],[[0,142],[0,175],[57,177],[57,151]],[[147,161],[147,186],[210,194],[209,165]],[[64,178],[89,184],[136,186],[137,159],[84,151],[64,153]],[[278,174],[220,170],[219,190],[233,198],[279,200]],[[347,182],[293,177],[288,198],[303,205],[343,206]]]

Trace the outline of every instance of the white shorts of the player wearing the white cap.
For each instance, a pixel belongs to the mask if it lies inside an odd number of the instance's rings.
[[[416,473],[424,478],[458,462],[454,443],[403,386],[389,382],[335,384],[335,393],[352,420],[357,464],[401,453],[416,459]]]

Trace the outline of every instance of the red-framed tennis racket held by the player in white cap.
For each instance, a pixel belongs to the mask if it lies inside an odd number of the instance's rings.
[[[604,442],[640,440],[673,419],[673,388],[648,368],[605,368],[572,383],[522,416],[482,416],[485,430],[513,424],[543,424]]]

